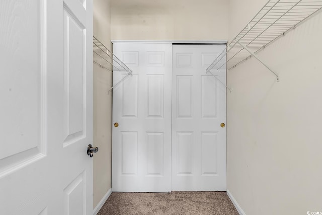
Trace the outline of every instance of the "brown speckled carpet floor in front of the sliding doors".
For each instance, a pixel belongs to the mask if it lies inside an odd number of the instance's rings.
[[[238,215],[226,192],[113,192],[98,215]]]

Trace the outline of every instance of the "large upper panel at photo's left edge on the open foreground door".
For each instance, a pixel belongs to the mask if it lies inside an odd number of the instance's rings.
[[[7,2],[0,4],[0,136],[10,150],[0,150],[0,177],[43,158],[47,147],[45,1]]]

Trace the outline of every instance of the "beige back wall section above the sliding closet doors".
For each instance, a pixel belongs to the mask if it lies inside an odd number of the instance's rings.
[[[227,40],[226,0],[112,0],[112,40]]]

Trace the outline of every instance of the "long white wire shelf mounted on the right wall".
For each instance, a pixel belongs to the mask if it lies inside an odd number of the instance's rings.
[[[321,8],[322,0],[268,1],[245,28],[228,44],[227,48],[211,63],[207,68],[207,72],[213,69],[222,69],[225,65],[229,70],[252,55],[256,57],[255,53],[295,28],[296,25]]]

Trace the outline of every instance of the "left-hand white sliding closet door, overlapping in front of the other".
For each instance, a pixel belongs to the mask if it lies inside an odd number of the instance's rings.
[[[132,71],[113,89],[112,191],[169,192],[172,44],[121,44]],[[113,83],[124,73],[114,72]]]

